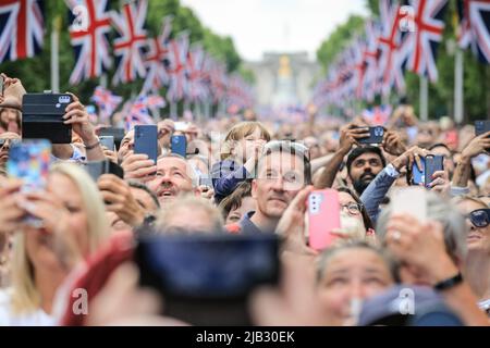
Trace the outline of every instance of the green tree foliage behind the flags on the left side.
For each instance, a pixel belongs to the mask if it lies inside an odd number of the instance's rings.
[[[42,91],[50,89],[50,54],[51,54],[51,33],[54,22],[60,25],[60,90],[73,91],[88,102],[95,87],[100,84],[100,78],[83,82],[76,86],[69,84],[70,74],[75,64],[74,53],[70,44],[68,8],[63,0],[45,1],[45,46],[41,53],[34,58],[15,62],[3,62],[0,64],[0,72],[9,76],[19,77],[28,91]],[[111,0],[112,10],[119,10],[121,1]],[[149,0],[146,28],[149,36],[157,35],[162,25],[162,20],[167,15],[173,16],[172,36],[183,30],[188,30],[191,42],[201,42],[204,48],[215,58],[225,62],[229,72],[241,72],[241,58],[236,52],[233,40],[230,37],[221,37],[206,28],[188,8],[182,7],[179,0]],[[110,41],[115,34],[112,32]],[[139,92],[143,80],[137,79],[131,84],[111,86],[111,78],[115,72],[115,66],[107,74],[108,86],[115,94],[128,98]],[[245,72],[246,73],[246,72]],[[164,90],[161,91],[162,94]]]

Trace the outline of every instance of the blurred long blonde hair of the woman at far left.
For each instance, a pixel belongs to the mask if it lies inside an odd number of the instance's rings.
[[[100,192],[90,176],[71,163],[54,164],[50,175],[61,174],[72,181],[82,196],[87,214],[88,250],[93,253],[109,237],[109,225]],[[66,192],[69,194],[69,192]],[[12,262],[12,310],[14,313],[36,311],[41,298],[34,283],[34,265],[26,250],[25,233],[17,232],[13,244]]]

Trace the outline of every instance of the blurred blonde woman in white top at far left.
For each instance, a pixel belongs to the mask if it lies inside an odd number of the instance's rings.
[[[89,175],[74,164],[53,165],[42,194],[19,194],[15,184],[3,184],[13,188],[2,200],[17,196],[10,209],[10,216],[17,217],[10,217],[10,224],[5,216],[0,221],[17,231],[12,284],[0,291],[0,325],[53,325],[60,285],[109,236],[103,201]],[[40,227],[22,224],[25,213],[37,217]]]

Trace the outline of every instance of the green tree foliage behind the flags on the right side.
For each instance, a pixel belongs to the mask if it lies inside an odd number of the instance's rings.
[[[379,16],[379,1],[366,0],[366,7],[371,16]],[[429,117],[438,119],[442,115],[453,116],[454,114],[454,50],[449,49],[451,42],[456,39],[456,7],[455,1],[449,1],[445,12],[445,29],[443,41],[439,46],[437,66],[439,79],[434,84],[429,84]],[[356,28],[362,30],[364,18],[353,20],[350,17],[346,23],[340,25],[320,46],[317,58],[327,67],[332,63],[343,48],[352,38]],[[406,72],[406,97],[413,103],[416,112],[419,112],[419,86],[418,75]],[[399,96],[392,94],[391,102],[396,103]],[[379,102],[377,98],[377,102]],[[360,103],[365,107],[365,103]],[[480,63],[469,51],[464,52],[464,110],[465,122],[478,119],[490,117],[490,65]]]

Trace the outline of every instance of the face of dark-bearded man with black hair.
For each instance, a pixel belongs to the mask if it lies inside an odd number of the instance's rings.
[[[373,152],[363,153],[352,162],[350,176],[354,189],[359,196],[382,169],[380,157]]]

